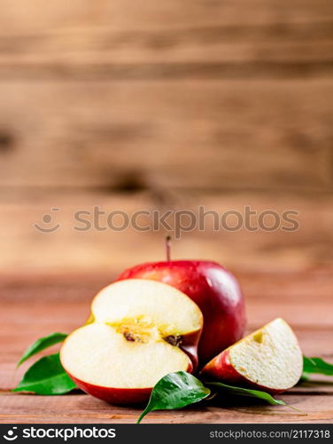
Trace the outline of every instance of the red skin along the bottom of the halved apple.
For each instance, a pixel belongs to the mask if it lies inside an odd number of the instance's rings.
[[[190,364],[186,370],[189,373],[193,367]],[[105,400],[110,404],[118,404],[124,406],[131,406],[136,404],[143,404],[147,402],[151,396],[152,387],[147,388],[112,388],[103,387],[101,385],[89,384],[74,377],[66,370],[67,375],[74,381],[74,383],[83,390],[83,392],[94,396],[98,400]]]

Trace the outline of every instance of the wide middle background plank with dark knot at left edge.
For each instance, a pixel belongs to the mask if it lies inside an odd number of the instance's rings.
[[[6,82],[0,94],[3,187],[332,190],[330,80]]]

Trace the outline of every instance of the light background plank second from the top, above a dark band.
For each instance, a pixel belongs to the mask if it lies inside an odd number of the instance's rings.
[[[121,64],[137,67],[149,63],[189,63],[190,70],[194,63],[224,61],[246,66],[265,61],[275,62],[276,67],[278,63],[289,62],[290,66],[301,69],[302,61],[313,66],[329,61],[331,25],[330,18],[265,24],[221,21],[220,25],[209,26],[204,22],[201,26],[166,24],[161,28],[142,29],[44,28],[38,35],[22,28],[20,32],[2,36],[0,67],[2,71],[11,66],[27,71],[39,66],[49,67],[50,75],[53,73],[58,79],[64,72],[57,72],[54,69],[57,65],[80,68],[97,64],[95,78],[98,67],[112,68]],[[182,75],[185,72],[182,71]],[[246,72],[238,75],[245,76]],[[109,78],[111,76],[110,73]]]

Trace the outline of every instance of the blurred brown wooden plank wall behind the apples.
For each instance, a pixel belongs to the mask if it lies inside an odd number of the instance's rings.
[[[297,233],[184,234],[174,257],[332,262],[330,0],[2,0],[1,269],[120,269],[158,233],[75,210],[298,210]],[[58,207],[62,229],[32,225]],[[136,249],[133,249],[133,245]]]

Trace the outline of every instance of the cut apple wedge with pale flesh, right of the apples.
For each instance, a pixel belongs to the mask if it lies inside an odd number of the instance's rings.
[[[271,393],[298,383],[303,369],[298,339],[283,319],[275,319],[208,362],[202,375]]]

